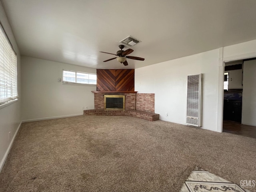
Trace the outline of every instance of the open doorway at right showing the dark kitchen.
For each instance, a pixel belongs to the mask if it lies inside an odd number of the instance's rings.
[[[222,131],[256,138],[256,58],[224,65]]]

